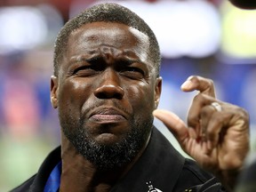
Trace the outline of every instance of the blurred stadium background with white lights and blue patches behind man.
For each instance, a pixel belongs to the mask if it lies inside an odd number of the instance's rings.
[[[54,40],[69,18],[101,2],[0,1],[1,192],[32,176],[60,144],[58,116],[50,102]],[[256,11],[238,9],[227,0],[111,2],[137,12],[156,33],[164,78],[159,108],[186,121],[196,92],[181,92],[180,84],[191,75],[212,78],[220,100],[249,111],[255,150]],[[180,150],[164,125],[155,124]]]

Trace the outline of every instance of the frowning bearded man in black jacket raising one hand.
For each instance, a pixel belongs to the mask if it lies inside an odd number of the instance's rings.
[[[51,78],[61,145],[12,191],[231,191],[249,148],[248,115],[216,100],[212,81],[200,76],[181,87],[199,91],[188,125],[156,109],[159,68],[156,36],[123,6],[95,5],[69,20],[56,40]],[[218,179],[180,156],[153,115]]]

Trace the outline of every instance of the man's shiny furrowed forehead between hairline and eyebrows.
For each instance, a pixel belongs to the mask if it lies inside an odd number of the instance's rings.
[[[76,46],[74,45],[76,44]],[[68,39],[69,52],[76,49],[90,49],[100,45],[113,46],[125,51],[128,49],[149,54],[149,38],[136,28],[115,22],[92,22],[72,32]],[[73,46],[72,46],[73,45]],[[71,50],[70,50],[71,48]]]

